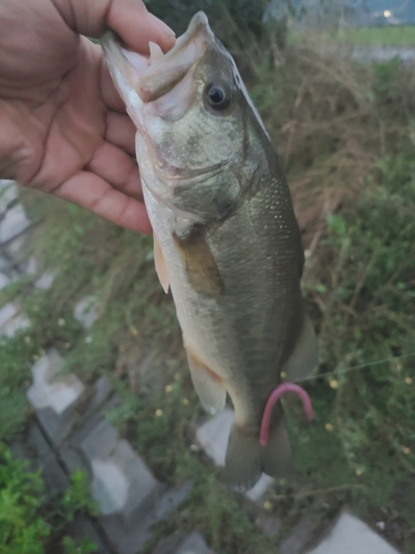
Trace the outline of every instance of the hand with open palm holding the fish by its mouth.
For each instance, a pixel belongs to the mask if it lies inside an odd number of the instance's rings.
[[[132,49],[164,51],[174,33],[142,0],[0,2],[0,177],[151,233],[135,127],[103,62],[111,27]]]

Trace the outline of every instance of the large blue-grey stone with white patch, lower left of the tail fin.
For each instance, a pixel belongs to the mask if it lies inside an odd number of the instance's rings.
[[[92,494],[104,515],[118,513],[126,524],[154,509],[159,483],[116,429],[102,421],[80,444],[93,474]]]

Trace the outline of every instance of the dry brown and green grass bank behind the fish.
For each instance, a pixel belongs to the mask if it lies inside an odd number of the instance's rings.
[[[84,381],[107,375],[124,399],[108,420],[157,479],[195,482],[145,554],[177,529],[199,530],[222,554],[266,554],[304,514],[318,531],[344,504],[373,527],[385,522],[385,536],[415,553],[415,78],[397,60],[361,66],[331,50],[310,40],[272,51],[246,75],[291,184],[308,253],[303,291],[321,348],[320,376],[305,383],[315,421],[305,425],[298,403],[284,402],[298,474],[277,483],[253,513],[189,450],[203,412],[152,240],[56,199],[22,195],[43,222],[32,248],[59,274],[48,293],[30,278],[1,293],[1,302],[20,299],[33,326],[0,350],[8,402],[0,438],[24,427],[29,368],[51,346]],[[102,306],[87,332],[72,315],[86,294]],[[269,513],[281,521],[276,540],[256,525]]]

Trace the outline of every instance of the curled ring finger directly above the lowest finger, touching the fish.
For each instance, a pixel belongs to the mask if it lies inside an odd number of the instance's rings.
[[[95,151],[86,168],[127,196],[139,201],[143,199],[142,183],[136,162],[114,144],[103,143]]]

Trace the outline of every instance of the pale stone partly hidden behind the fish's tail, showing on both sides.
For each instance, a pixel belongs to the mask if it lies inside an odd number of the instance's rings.
[[[232,421],[234,411],[226,409],[215,418],[209,419],[206,423],[199,427],[196,432],[197,442],[210,460],[212,460],[215,465],[219,468],[225,466],[226,451],[228,448]],[[252,502],[260,502],[266,491],[272,483],[272,478],[262,474],[252,489],[246,492],[246,495]]]

